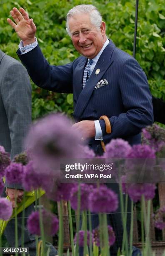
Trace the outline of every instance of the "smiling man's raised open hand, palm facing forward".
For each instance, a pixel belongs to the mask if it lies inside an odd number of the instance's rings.
[[[23,8],[20,8],[20,11],[17,8],[13,8],[10,11],[15,23],[7,19],[7,22],[15,29],[15,32],[18,34],[19,38],[23,41],[23,46],[32,44],[35,42],[35,33],[36,26],[32,19],[29,18],[29,15]]]

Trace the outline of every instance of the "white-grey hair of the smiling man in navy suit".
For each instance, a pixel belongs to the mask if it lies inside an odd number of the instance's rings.
[[[66,31],[71,36],[69,30],[69,19],[75,15],[87,13],[90,15],[90,22],[99,29],[102,22],[102,16],[94,5],[77,5],[69,10],[66,15]]]

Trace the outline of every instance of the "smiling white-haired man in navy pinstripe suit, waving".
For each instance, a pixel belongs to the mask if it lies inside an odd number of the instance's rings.
[[[15,22],[7,21],[21,39],[18,56],[33,82],[53,92],[73,93],[73,117],[77,121],[73,126],[96,154],[102,154],[102,140],[108,143],[123,138],[131,145],[141,142],[141,129],[153,123],[146,75],[132,56],[107,39],[105,22],[95,6],[77,5],[67,13],[67,33],[82,56],[62,66],[47,63],[28,13],[13,8],[11,15]],[[111,133],[106,133],[101,115],[109,118]],[[113,185],[117,192],[118,187]],[[121,216],[113,215],[113,220],[118,235],[111,255],[116,256],[122,243]]]

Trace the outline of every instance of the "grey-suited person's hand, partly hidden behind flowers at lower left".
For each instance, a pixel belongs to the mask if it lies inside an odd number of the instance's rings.
[[[23,193],[24,190],[22,189],[13,189],[13,188],[6,188],[6,195],[9,196],[10,202],[12,203],[12,207],[15,208],[17,205],[15,204],[15,198],[16,202],[20,203],[23,200]]]

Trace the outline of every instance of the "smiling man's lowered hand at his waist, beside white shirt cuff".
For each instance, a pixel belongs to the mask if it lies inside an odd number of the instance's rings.
[[[83,140],[87,138],[92,138],[96,134],[94,121],[83,120],[75,123],[72,127],[80,132]]]

